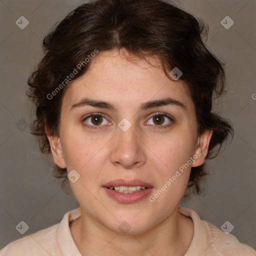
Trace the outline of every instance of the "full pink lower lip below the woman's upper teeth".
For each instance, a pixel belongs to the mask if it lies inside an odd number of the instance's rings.
[[[121,203],[132,203],[142,200],[143,198],[148,196],[153,189],[152,187],[149,187],[133,193],[122,193],[117,192],[113,189],[109,189],[107,187],[103,188],[105,189],[108,196]]]

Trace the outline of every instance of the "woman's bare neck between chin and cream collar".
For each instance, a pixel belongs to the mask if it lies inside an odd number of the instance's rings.
[[[115,233],[85,214],[70,223],[70,231],[83,256],[177,256],[184,255],[191,243],[193,222],[176,207],[163,221],[139,234]]]

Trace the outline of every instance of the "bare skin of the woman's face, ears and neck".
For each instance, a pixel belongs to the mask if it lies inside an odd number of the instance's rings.
[[[115,50],[99,52],[87,72],[64,93],[59,136],[47,133],[54,162],[67,172],[75,169],[80,174],[76,182],[69,181],[81,211],[70,223],[70,231],[82,255],[184,255],[193,236],[193,222],[178,212],[178,204],[190,168],[204,162],[212,132],[197,136],[195,108],[181,80],[170,80],[157,66],[157,59],[150,59],[152,66],[129,57],[132,61]],[[111,102],[118,110],[89,105],[70,110],[85,96]],[[185,109],[164,105],[139,110],[141,103],[167,96],[182,102]],[[93,116],[83,120],[97,112],[105,115],[99,124]],[[174,122],[161,115],[160,121],[150,118],[157,112],[173,116]],[[123,118],[131,123],[125,132],[118,127]],[[140,179],[153,185],[153,195],[198,151],[200,156],[154,202],[146,197],[119,203],[102,188],[117,178]],[[125,234],[118,228],[123,221],[131,227]]]

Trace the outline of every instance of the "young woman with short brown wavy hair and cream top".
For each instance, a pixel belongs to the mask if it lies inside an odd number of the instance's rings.
[[[212,112],[225,76],[203,28],[163,1],[97,0],[45,36],[28,78],[32,134],[79,208],[1,256],[255,255],[178,206],[232,134]]]

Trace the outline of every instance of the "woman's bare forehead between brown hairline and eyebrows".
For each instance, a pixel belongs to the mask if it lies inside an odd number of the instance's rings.
[[[123,107],[169,96],[182,101],[187,109],[193,103],[182,80],[170,80],[157,58],[142,58],[127,52],[99,52],[90,60],[88,70],[70,82],[63,96],[63,106],[71,107],[82,97],[113,102]]]

